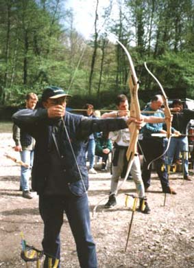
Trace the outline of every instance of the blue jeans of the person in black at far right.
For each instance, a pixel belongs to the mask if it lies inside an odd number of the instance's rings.
[[[167,150],[167,164],[171,165],[173,162],[173,157],[176,150],[179,150],[180,153],[185,153],[182,157],[182,170],[184,176],[189,175],[189,161],[188,161],[188,138],[187,137],[171,137],[171,142],[169,150]]]

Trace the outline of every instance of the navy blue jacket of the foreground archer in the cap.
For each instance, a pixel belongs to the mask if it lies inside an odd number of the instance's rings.
[[[62,119],[49,119],[46,109],[24,109],[14,113],[12,120],[36,139],[32,189],[51,195],[66,194],[68,190],[78,196],[84,194],[88,190],[88,135],[127,127],[123,118],[86,118],[69,112],[63,124]]]

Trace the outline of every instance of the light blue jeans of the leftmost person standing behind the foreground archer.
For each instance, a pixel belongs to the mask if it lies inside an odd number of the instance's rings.
[[[34,159],[34,150],[23,150],[20,154],[21,161],[29,166],[29,168],[21,166],[21,188],[23,191],[27,191],[29,190],[29,177],[31,175],[31,167]]]

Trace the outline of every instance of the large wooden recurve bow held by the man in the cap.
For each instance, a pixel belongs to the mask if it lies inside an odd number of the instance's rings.
[[[130,102],[130,116],[133,118],[136,118],[140,120],[141,118],[141,109],[138,102],[138,88],[139,88],[139,81],[136,76],[136,71],[134,69],[134,64],[132,61],[132,57],[130,56],[130,53],[128,52],[128,49],[117,40],[117,43],[121,45],[123,50],[125,51],[125,54],[128,56],[128,60],[130,63],[130,78],[129,78],[129,87],[130,87],[130,96],[131,96],[131,102]],[[123,186],[123,183],[128,179],[128,175],[130,174],[130,170],[132,168],[133,159],[134,156],[137,153],[137,142],[138,142],[138,129],[136,127],[136,124],[132,122],[129,125],[130,130],[130,144],[126,153],[127,159],[128,159],[128,170],[125,174],[125,178],[123,182],[120,184],[120,186],[117,188],[117,191],[121,189],[121,186]]]

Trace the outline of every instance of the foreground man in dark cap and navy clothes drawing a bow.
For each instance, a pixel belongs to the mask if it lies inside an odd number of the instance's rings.
[[[12,120],[36,139],[32,188],[39,195],[44,222],[44,268],[60,267],[60,230],[66,213],[82,268],[97,268],[95,243],[90,230],[86,139],[91,133],[125,129],[136,118],[88,118],[66,111],[68,94],[60,87],[43,91],[43,108],[24,109]],[[52,264],[51,264],[52,263]],[[63,265],[62,267],[64,267]]]

